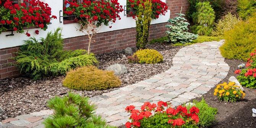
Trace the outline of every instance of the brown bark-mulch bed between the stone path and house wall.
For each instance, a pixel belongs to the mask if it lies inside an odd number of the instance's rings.
[[[122,80],[121,87],[123,87],[151,78],[156,74],[168,70],[172,66],[172,58],[181,47],[173,47],[169,44],[154,44],[147,45],[147,48],[159,51],[164,57],[164,62],[154,65],[128,63],[128,55],[126,55],[123,50],[118,50],[111,53],[96,55],[99,60],[98,67],[100,69],[106,69],[107,66],[115,63],[125,65],[128,69],[128,73],[119,76]],[[133,48],[134,52],[136,50],[136,48]],[[25,77],[1,79],[0,106],[5,110],[4,115],[8,117],[16,117],[21,114],[48,109],[46,106],[47,100],[54,96],[66,94],[69,91],[92,97],[117,89],[108,89],[105,91],[70,90],[62,86],[63,78],[64,76],[60,76],[57,78],[45,78],[37,81],[32,81]]]

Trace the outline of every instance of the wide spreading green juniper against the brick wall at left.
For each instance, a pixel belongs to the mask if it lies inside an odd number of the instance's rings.
[[[65,75],[67,71],[76,67],[94,65],[98,61],[94,54],[87,54],[86,50],[63,50],[61,29],[49,32],[40,42],[35,38],[25,41],[20,47],[15,66],[27,76],[40,79],[45,76]]]

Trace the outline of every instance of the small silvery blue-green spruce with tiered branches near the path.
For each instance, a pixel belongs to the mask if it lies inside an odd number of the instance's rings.
[[[188,32],[189,23],[186,22],[186,19],[183,17],[184,14],[176,13],[178,16],[169,19],[170,24],[165,27],[169,29],[166,31],[168,34],[168,41],[172,43],[187,43],[191,42],[198,37],[198,35]]]

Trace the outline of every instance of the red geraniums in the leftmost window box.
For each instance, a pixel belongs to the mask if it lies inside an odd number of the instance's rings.
[[[40,0],[23,0],[24,3],[13,4],[11,0],[0,0],[0,34],[11,29],[18,33],[25,33],[24,29],[39,27],[44,31],[50,20],[57,18],[51,16],[51,8]],[[29,6],[26,5],[29,3]],[[36,31],[39,34],[39,31]],[[26,32],[27,36],[30,36]]]

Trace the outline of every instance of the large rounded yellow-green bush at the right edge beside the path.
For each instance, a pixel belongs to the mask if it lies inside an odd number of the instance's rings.
[[[220,47],[223,57],[247,60],[256,49],[256,17],[240,21],[233,29],[224,32],[225,43]]]

